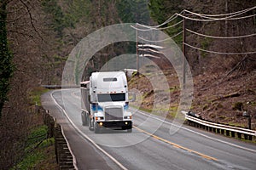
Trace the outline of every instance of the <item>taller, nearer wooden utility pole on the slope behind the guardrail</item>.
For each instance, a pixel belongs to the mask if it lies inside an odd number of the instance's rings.
[[[183,12],[183,16],[185,16],[185,11]],[[186,88],[186,19],[183,17],[183,89]]]

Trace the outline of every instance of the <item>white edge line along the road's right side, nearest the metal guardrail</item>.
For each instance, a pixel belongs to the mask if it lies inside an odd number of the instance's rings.
[[[134,110],[134,109],[132,109],[132,110]],[[142,115],[144,115],[144,116],[149,116],[149,117],[151,117],[151,118],[154,118],[155,120],[158,120],[158,121],[160,121],[160,122],[164,122],[164,123],[166,123],[166,124],[169,124],[169,125],[173,125],[173,126],[175,126],[175,127],[178,127],[177,125],[175,125],[175,124],[173,124],[173,123],[171,123],[171,122],[163,121],[163,120],[161,120],[160,118],[157,118],[157,117],[152,116],[152,115],[149,115],[149,114],[145,114],[145,113],[143,113],[142,111],[138,111],[138,110],[137,110],[137,112],[140,113],[140,114],[142,114]],[[189,132],[191,132],[191,133],[195,133],[195,134],[201,135],[201,136],[203,136],[203,137],[205,137],[205,138],[207,138],[207,139],[212,139],[212,140],[216,140],[216,141],[218,141],[218,142],[220,142],[220,143],[229,144],[229,145],[231,145],[231,146],[234,146],[234,147],[236,147],[236,148],[240,148],[240,149],[242,149],[242,150],[248,150],[248,151],[251,151],[251,152],[256,152],[256,150],[251,150],[251,149],[248,149],[248,148],[246,148],[246,147],[242,147],[242,146],[237,145],[237,144],[232,144],[232,143],[230,143],[230,142],[226,142],[226,141],[221,140],[221,139],[215,139],[215,138],[212,138],[212,137],[210,137],[210,136],[207,136],[206,134],[202,134],[202,133],[198,133],[198,132],[195,132],[195,131],[193,131],[193,130],[190,130],[189,128],[186,128],[186,127],[180,127],[180,128],[182,128],[183,130],[187,130],[187,131],[189,131]]]

